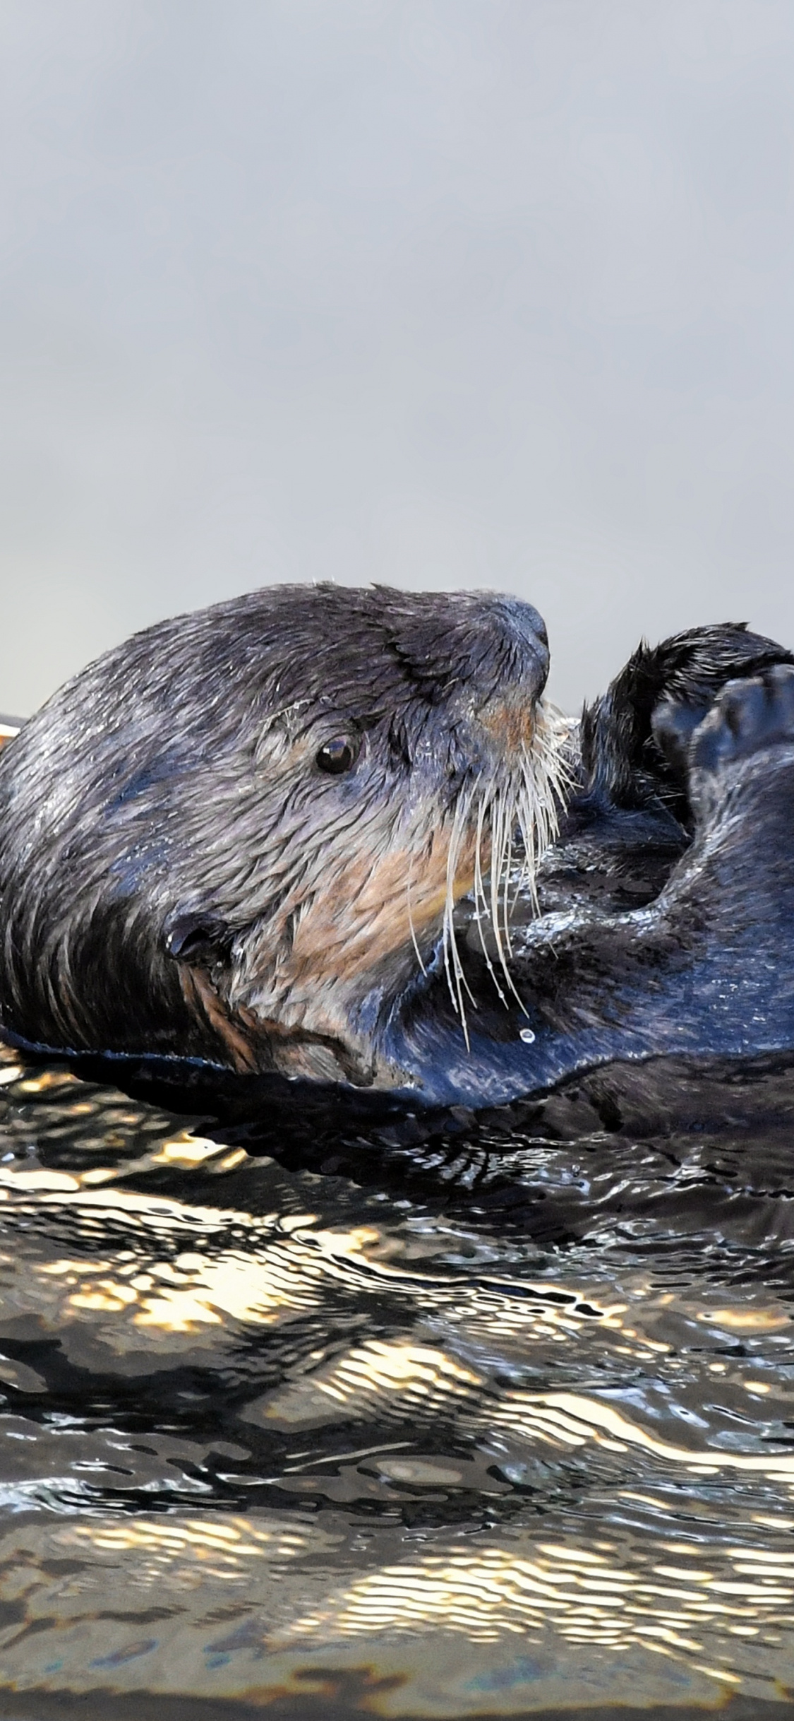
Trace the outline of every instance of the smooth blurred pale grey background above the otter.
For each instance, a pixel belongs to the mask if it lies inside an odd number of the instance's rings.
[[[2,0],[0,707],[277,580],[794,644],[791,0]]]

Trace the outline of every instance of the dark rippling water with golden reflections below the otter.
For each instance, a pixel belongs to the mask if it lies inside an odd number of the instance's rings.
[[[784,1101],[263,1153],[3,1057],[2,1716],[794,1712]]]

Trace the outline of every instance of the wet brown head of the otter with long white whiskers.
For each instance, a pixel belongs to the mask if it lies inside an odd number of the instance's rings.
[[[545,628],[492,592],[275,587],[91,664],[0,764],[0,1012],[69,1050],[390,1084],[378,1029],[543,843]],[[490,874],[490,885],[485,878]]]

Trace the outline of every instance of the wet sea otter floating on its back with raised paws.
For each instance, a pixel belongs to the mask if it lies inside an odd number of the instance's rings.
[[[493,592],[272,587],[137,633],[0,757],[0,1034],[497,1105],[794,1048],[794,666],[641,647],[576,726]]]

